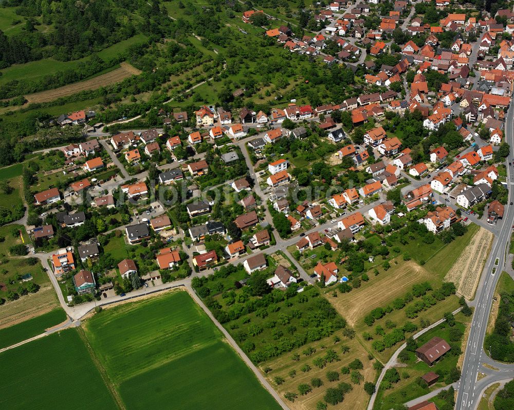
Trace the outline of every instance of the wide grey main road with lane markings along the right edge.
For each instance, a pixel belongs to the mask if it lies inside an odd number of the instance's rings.
[[[514,108],[510,106],[505,121],[505,138],[510,144],[510,156],[514,158]],[[507,163],[507,184],[509,188],[514,186],[514,173]],[[494,363],[487,357],[484,351],[484,338],[487,328],[487,321],[491,310],[491,302],[494,294],[495,286],[504,270],[504,266],[508,263],[507,246],[509,245],[511,226],[514,225],[514,207],[509,206],[512,201],[512,190],[509,189],[508,203],[505,206],[505,214],[502,221],[500,232],[495,237],[489,258],[485,264],[482,277],[480,279],[479,288],[476,292],[476,305],[473,318],[471,320],[471,329],[469,332],[468,343],[462,365],[461,380],[458,385],[457,399],[455,409],[475,409],[481,397],[481,392],[485,388],[485,384],[492,381],[512,378],[514,366],[493,364],[493,367],[499,369],[498,372],[488,375],[487,378],[477,380],[479,369],[484,373],[485,367],[481,365],[483,362]],[[477,389],[478,387],[478,389]]]

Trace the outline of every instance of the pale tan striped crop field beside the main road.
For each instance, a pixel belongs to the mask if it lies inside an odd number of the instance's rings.
[[[453,282],[458,294],[468,300],[474,298],[492,239],[491,232],[480,228],[445,276],[445,281]]]

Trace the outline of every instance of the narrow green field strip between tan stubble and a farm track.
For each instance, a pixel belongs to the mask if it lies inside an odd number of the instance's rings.
[[[41,316],[17,323],[0,330],[0,348],[12,346],[23,340],[40,335],[49,327],[56,326],[66,320],[64,310],[53,309]]]

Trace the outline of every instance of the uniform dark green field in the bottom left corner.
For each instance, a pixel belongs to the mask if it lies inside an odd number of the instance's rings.
[[[76,329],[0,353],[0,408],[115,410]]]

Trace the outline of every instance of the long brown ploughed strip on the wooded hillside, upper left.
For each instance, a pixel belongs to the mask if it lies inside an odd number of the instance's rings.
[[[80,81],[78,83],[65,85],[53,90],[36,92],[34,94],[25,95],[25,98],[29,103],[47,103],[64,97],[66,95],[72,95],[84,90],[94,90],[96,88],[105,87],[107,85],[116,84],[131,75],[141,74],[141,71],[135,67],[132,67],[128,63],[121,63],[120,68],[109,71],[105,74],[98,75],[92,79],[86,81]]]

